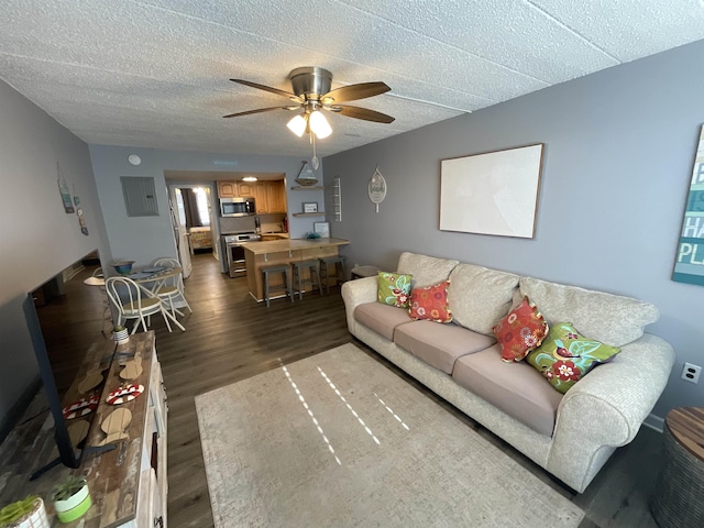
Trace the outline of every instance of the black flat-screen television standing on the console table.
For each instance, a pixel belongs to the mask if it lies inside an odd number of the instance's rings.
[[[68,468],[78,468],[86,451],[79,440],[69,433],[72,426],[76,429],[88,429],[92,413],[76,418],[65,419],[64,408],[73,403],[78,394],[77,385],[81,382],[78,373],[85,369],[88,351],[105,354],[110,343],[109,314],[106,311],[105,290],[100,286],[86,284],[99,268],[97,252],[80,258],[61,271],[54,277],[29,293],[23,309],[32,344],[36,354],[44,392],[48,399],[50,410],[54,419],[54,436],[59,457],[48,466],[38,469],[32,479],[52,466],[63,463]],[[102,345],[100,345],[102,341]],[[106,346],[107,345],[107,346]],[[91,359],[101,369],[110,365],[109,356]],[[81,387],[80,394],[89,399],[99,395],[100,386],[90,389]],[[68,402],[72,399],[72,402]],[[84,420],[87,424],[79,424]],[[79,426],[79,427],[76,427]]]

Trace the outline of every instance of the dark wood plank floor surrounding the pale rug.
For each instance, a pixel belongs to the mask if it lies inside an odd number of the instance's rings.
[[[302,301],[279,299],[271,308],[250,297],[245,278],[231,279],[219,272],[207,254],[194,256],[194,272],[186,280],[194,314],[186,316],[187,331],[168,333],[154,319],[156,349],[168,394],[168,524],[173,528],[212,526],[208,486],[200,449],[194,397],[251,377],[280,362],[289,363],[353,339],[346,331],[339,290],[307,294]],[[586,512],[583,528],[654,527],[647,501],[659,471],[661,436],[641,429],[636,440],[617,450],[584,494],[574,495],[543,470],[501,439],[464,417],[440,398],[409,380],[393,365],[355,343],[435,398],[469,427],[502,447],[522,465]],[[575,446],[579,449],[579,446]]]

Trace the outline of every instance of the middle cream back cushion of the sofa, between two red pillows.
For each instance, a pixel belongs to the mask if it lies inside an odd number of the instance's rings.
[[[512,307],[518,275],[474,264],[458,264],[450,274],[450,308],[454,322],[492,336],[492,328]]]

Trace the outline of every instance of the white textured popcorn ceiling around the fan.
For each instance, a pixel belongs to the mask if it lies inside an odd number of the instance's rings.
[[[288,102],[228,79],[389,85],[322,156],[700,38],[702,0],[2,0],[0,78],[88,143],[300,156],[292,112],[222,119]]]

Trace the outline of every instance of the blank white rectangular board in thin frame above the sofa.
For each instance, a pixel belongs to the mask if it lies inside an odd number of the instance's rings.
[[[440,230],[532,239],[542,143],[441,162]]]

